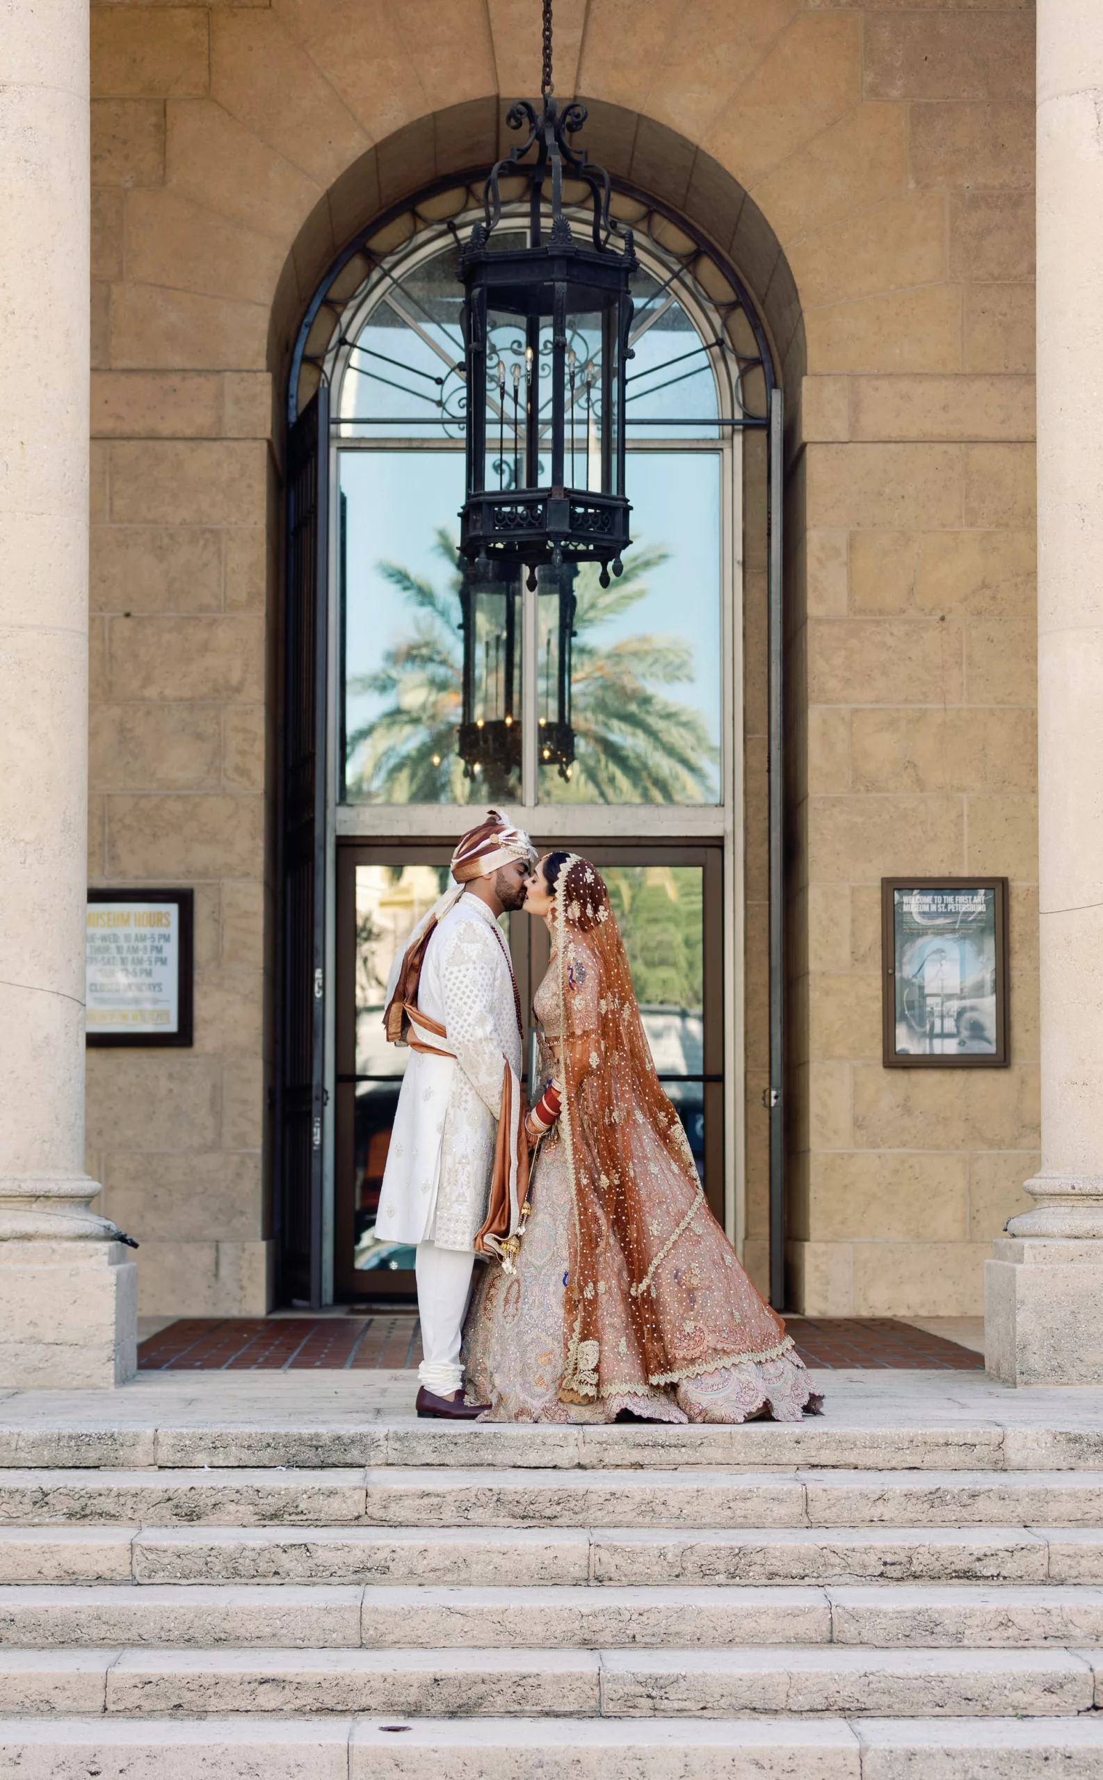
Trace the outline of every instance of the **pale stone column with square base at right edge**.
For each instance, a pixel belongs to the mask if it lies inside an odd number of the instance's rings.
[[[986,1267],[987,1367],[1103,1383],[1103,5],[1037,0],[1043,1166]]]

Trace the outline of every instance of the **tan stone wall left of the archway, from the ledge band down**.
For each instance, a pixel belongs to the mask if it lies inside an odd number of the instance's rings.
[[[267,372],[93,377],[89,881],[196,892],[196,1043],[89,1052],[142,1312],[267,1308]]]

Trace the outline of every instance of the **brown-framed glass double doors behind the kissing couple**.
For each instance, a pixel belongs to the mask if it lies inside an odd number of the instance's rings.
[[[539,844],[539,842],[537,842]],[[553,844],[543,844],[541,853]],[[391,961],[448,883],[450,846],[338,849],[334,1290],[413,1298],[413,1248],[375,1239],[375,1212],[409,1052],[382,1036]],[[717,846],[585,844],[603,872],[655,1068],[685,1125],[715,1216],[724,1219],[722,851]],[[543,922],[505,917],[530,1022],[550,959]]]

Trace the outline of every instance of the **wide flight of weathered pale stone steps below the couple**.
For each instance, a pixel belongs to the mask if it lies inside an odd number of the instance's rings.
[[[1101,1433],[0,1428],[0,1776],[1103,1776]]]

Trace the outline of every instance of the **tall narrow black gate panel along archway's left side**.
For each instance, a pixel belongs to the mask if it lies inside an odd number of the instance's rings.
[[[288,433],[279,870],[279,1299],[322,1303],[329,390]]]

